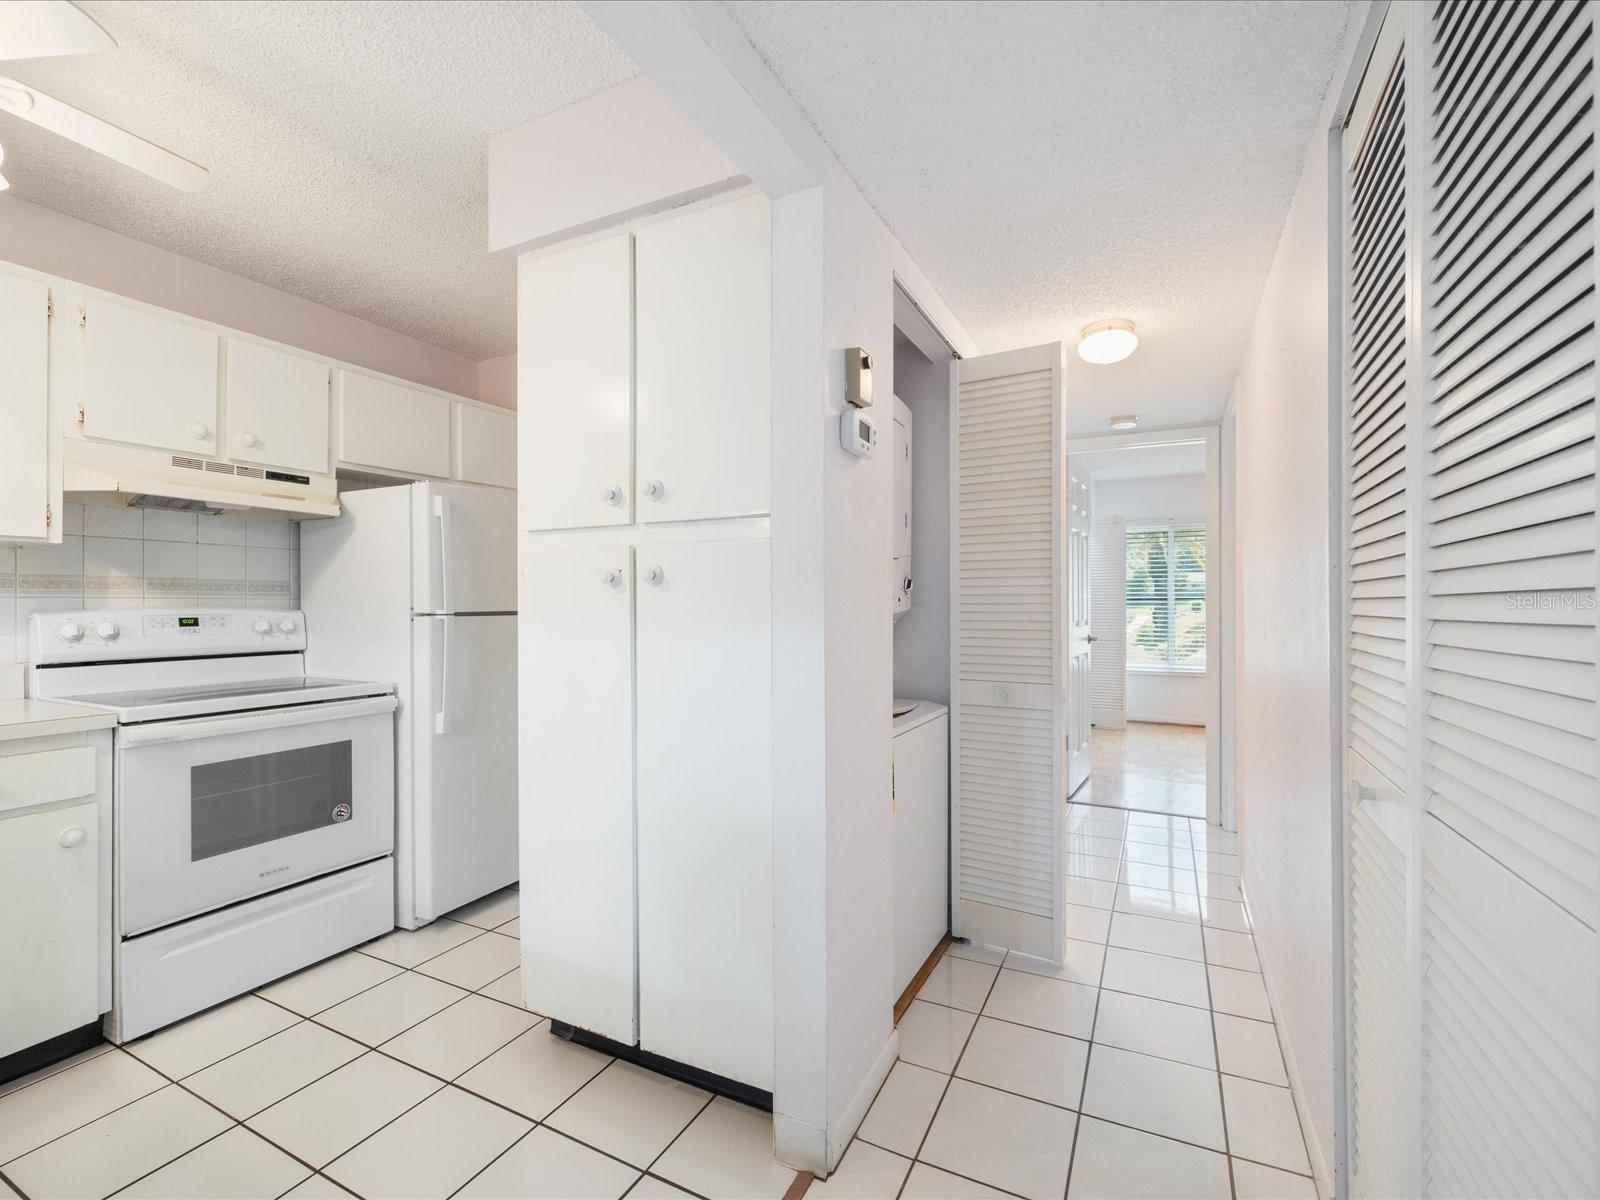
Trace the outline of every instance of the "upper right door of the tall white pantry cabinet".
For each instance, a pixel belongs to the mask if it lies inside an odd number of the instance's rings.
[[[771,510],[770,211],[755,195],[637,235],[637,482],[646,522]]]

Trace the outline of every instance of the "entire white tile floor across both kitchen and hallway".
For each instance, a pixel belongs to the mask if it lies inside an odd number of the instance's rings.
[[[837,1197],[1314,1200],[1234,837],[1069,805],[1061,966],[962,944]],[[520,1003],[517,896],[0,1086],[0,1200],[782,1197],[771,1118]]]

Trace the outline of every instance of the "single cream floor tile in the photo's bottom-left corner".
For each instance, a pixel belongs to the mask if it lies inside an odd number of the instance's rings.
[[[106,1197],[230,1123],[205,1101],[170,1085],[6,1163],[5,1173],[35,1200]]]

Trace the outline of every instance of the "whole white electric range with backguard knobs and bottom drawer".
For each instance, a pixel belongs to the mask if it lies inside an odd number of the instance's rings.
[[[394,928],[390,683],[306,674],[302,613],[37,613],[30,694],[117,714],[126,1042]]]

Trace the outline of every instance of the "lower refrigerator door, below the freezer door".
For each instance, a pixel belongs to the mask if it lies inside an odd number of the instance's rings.
[[[411,622],[418,923],[517,878],[517,618]]]

